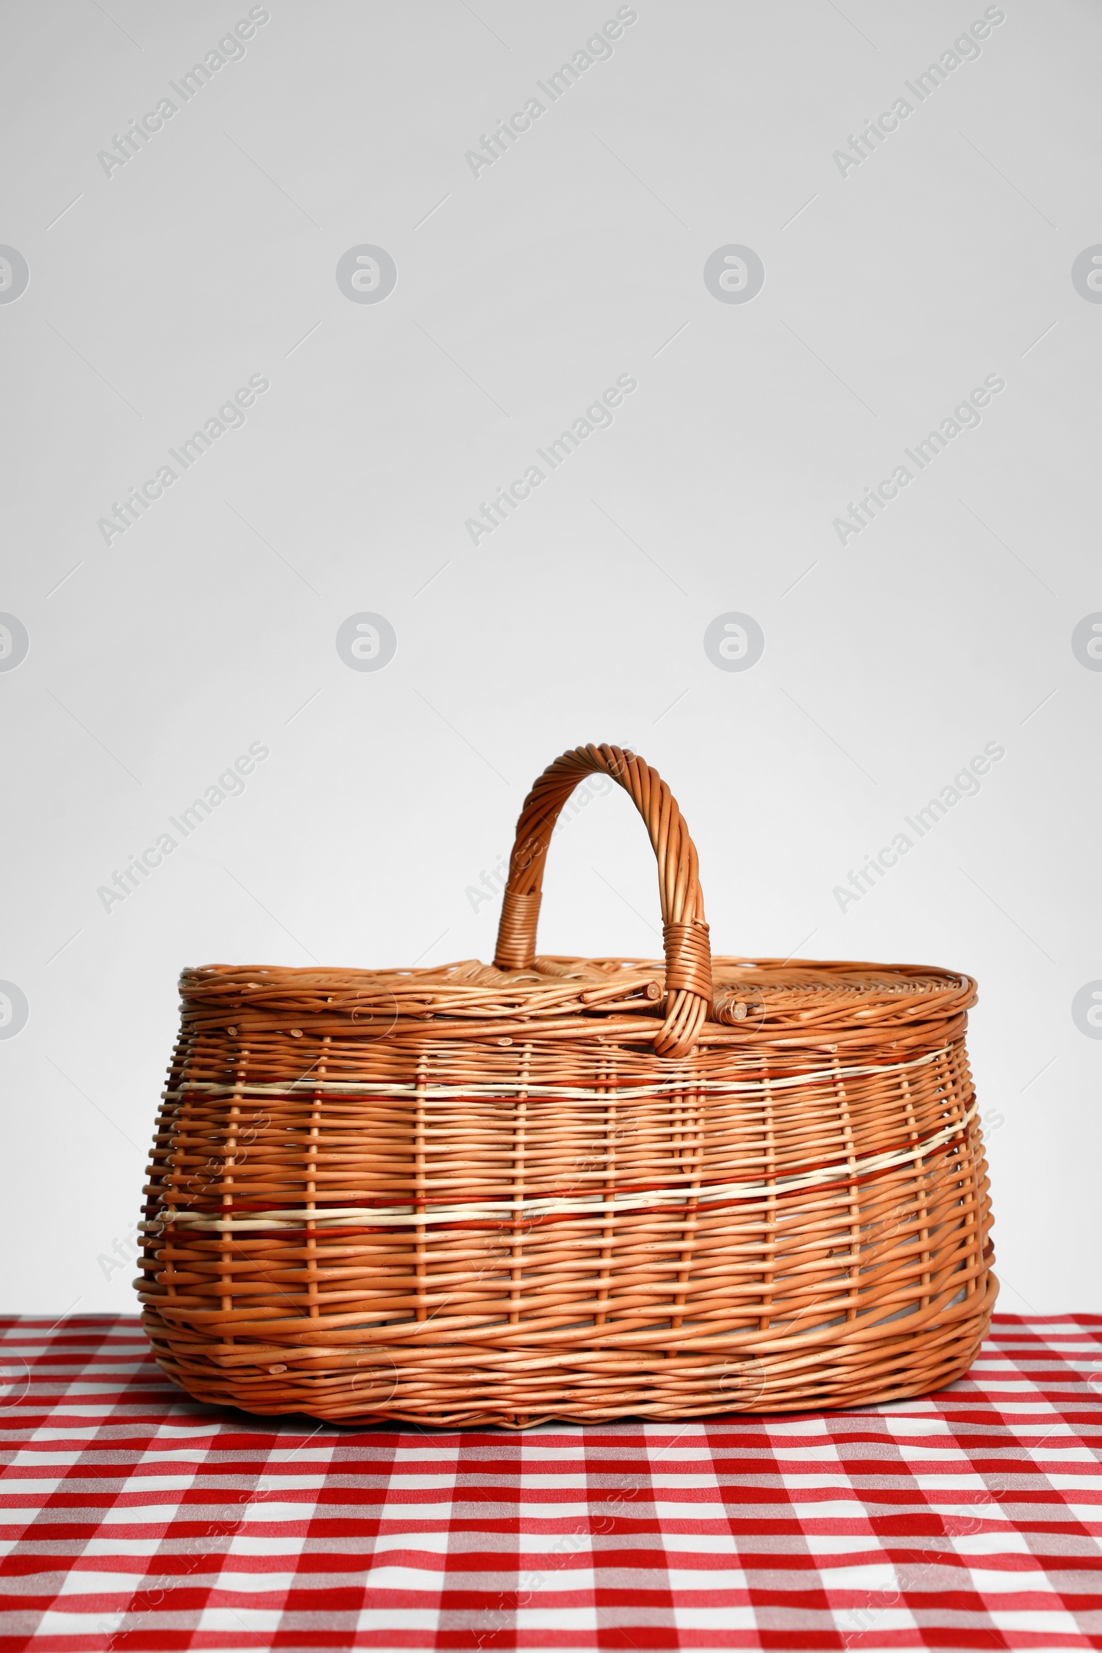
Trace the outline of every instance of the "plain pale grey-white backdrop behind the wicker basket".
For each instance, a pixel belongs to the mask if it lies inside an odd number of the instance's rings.
[[[639,0],[477,177],[466,152],[615,5],[268,10],[109,177],[97,152],[248,7],[5,15],[0,241],[30,286],[0,304],[0,608],[30,653],[0,674],[0,977],[30,1020],[0,1041],[3,1308],[132,1311],[183,964],[489,959],[471,891],[529,784],[615,741],[674,787],[715,950],[980,979],[1001,1308],[1102,1309],[1102,1041],[1071,1015],[1102,977],[1102,673],[1071,648],[1102,608],[1102,306],[1071,279],[1102,241],[1097,8],[1006,0],[919,104],[904,81],[983,5]],[[397,263],[383,302],[337,286],[360,243]],[[704,284],[729,243],[765,263],[752,302]],[[106,545],[251,374],[245,426]],[[621,374],[611,428],[473,545]],[[848,501],[985,375],[980,426],[843,547]],[[362,610],[398,635],[377,673],[334,645]],[[745,673],[704,653],[729,610],[765,631]],[[254,741],[246,792],[104,911]],[[981,792],[839,911],[986,742]],[[540,944],[654,955],[658,926],[643,826],[598,798],[555,841]]]

